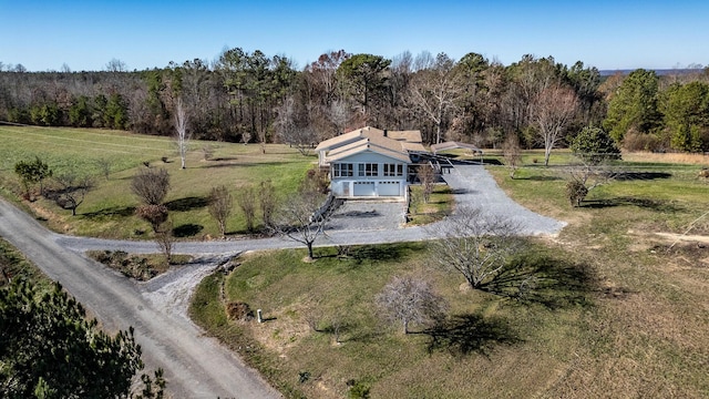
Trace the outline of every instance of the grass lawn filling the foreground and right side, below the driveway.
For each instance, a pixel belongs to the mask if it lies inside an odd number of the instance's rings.
[[[246,256],[205,280],[193,317],[289,397],[342,397],[348,382],[377,398],[707,397],[709,244],[655,233],[708,235],[697,218],[709,185],[698,165],[628,166],[633,178],[593,190],[580,208],[558,171],[532,163],[510,180],[491,167],[517,202],[569,222],[516,258],[536,277],[525,300],[465,289],[423,244],[400,244],[347,258],[320,248],[312,264],[299,250]],[[404,336],[379,320],[374,296],[394,275],[425,276],[451,303],[444,329]],[[228,320],[233,300],[269,320]]]

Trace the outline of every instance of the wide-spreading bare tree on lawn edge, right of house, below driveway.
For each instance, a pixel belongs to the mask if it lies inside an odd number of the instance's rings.
[[[507,257],[522,248],[518,225],[504,217],[462,206],[448,221],[432,232],[441,237],[431,242],[433,258],[441,267],[462,274],[471,288],[484,290]]]

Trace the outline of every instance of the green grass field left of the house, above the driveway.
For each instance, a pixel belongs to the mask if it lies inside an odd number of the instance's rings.
[[[187,168],[181,170],[171,139],[105,130],[0,126],[0,185],[6,196],[17,200],[20,193],[14,164],[35,156],[54,173],[76,171],[96,176],[95,190],[88,194],[75,217],[50,201],[40,198],[28,205],[54,231],[107,238],[150,238],[152,234],[150,225],[134,215],[138,202],[130,190],[132,176],[145,167],[144,162],[168,171],[172,190],[166,206],[175,234],[188,239],[218,236],[207,211],[213,186],[225,185],[236,195],[239,186],[271,181],[280,195],[288,195],[297,190],[315,161],[284,145],[267,145],[266,154],[261,154],[258,145],[193,141]],[[202,151],[205,146],[214,152],[209,161],[205,161]],[[111,167],[107,180],[102,174],[102,162]],[[227,233],[244,232],[245,222],[235,207],[227,221]]]

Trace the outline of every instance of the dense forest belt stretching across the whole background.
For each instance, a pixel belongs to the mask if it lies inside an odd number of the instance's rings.
[[[20,124],[171,135],[181,103],[193,136],[215,141],[315,143],[373,125],[485,147],[517,134],[536,147],[544,131],[563,145],[594,125],[629,150],[709,151],[709,69],[700,68],[602,76],[552,57],[502,65],[477,53],[389,60],[340,50],[296,70],[285,57],[239,48],[212,63],[133,72],[117,60],[101,72],[2,65],[0,121]]]

